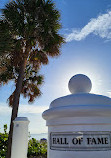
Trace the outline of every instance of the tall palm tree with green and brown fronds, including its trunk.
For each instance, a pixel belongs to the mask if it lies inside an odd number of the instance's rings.
[[[20,94],[33,102],[40,96],[43,76],[39,74],[48,57],[58,56],[64,43],[58,33],[60,13],[52,0],[12,0],[0,17],[0,85],[10,80],[15,90],[9,97],[12,116],[7,158],[11,155],[13,120],[17,117]]]

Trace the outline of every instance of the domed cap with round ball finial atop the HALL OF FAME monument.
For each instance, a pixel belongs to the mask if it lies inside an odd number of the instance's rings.
[[[52,101],[49,109],[42,114],[45,120],[64,117],[109,117],[111,115],[111,98],[89,93],[92,83],[86,75],[73,76],[68,86],[72,94]]]

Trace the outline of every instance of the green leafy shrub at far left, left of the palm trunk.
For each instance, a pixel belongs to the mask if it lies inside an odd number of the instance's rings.
[[[4,125],[4,132],[0,132],[0,158],[5,158],[7,151],[8,134],[7,125]]]

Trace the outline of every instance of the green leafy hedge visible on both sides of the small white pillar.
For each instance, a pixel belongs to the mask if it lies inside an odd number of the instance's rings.
[[[0,158],[5,158],[8,143],[7,125],[4,125],[4,132],[0,132]],[[32,138],[28,142],[28,158],[47,158],[47,142]]]

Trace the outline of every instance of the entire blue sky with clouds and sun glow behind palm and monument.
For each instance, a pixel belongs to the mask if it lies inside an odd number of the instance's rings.
[[[3,8],[8,0],[0,0]],[[92,81],[91,93],[111,97],[111,0],[54,0],[61,13],[60,33],[66,43],[61,55],[50,58],[40,74],[45,77],[41,87],[42,96],[33,104],[21,96],[20,117],[30,120],[31,134],[46,133],[46,122],[42,112],[50,103],[61,96],[70,94],[69,79],[76,74],[85,74]],[[0,87],[0,128],[10,124],[11,108],[7,98],[14,90],[11,81]]]

